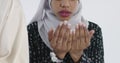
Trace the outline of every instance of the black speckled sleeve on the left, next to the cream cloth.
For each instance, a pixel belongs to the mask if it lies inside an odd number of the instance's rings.
[[[37,22],[27,26],[29,40],[29,62],[30,63],[53,63],[49,56],[49,50],[41,41],[38,34]]]

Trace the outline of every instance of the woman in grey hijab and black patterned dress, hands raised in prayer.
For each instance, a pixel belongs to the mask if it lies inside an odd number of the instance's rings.
[[[28,35],[30,63],[104,63],[101,28],[81,16],[80,0],[41,0]]]

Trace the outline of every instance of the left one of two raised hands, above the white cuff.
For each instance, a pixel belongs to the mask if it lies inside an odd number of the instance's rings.
[[[63,59],[71,48],[70,36],[70,28],[65,23],[59,25],[55,32],[53,29],[48,32],[50,45],[60,59]]]

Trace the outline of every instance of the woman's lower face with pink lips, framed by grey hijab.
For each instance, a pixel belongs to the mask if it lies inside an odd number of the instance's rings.
[[[61,21],[69,20],[76,10],[78,0],[52,0],[51,7],[54,14]]]

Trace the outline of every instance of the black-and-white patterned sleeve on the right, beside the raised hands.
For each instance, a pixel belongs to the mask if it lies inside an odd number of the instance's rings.
[[[84,51],[80,63],[104,63],[102,31],[98,25],[93,26],[93,29],[95,33],[91,39],[91,45]]]

